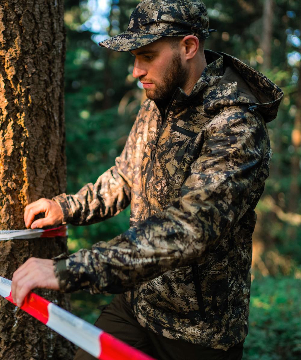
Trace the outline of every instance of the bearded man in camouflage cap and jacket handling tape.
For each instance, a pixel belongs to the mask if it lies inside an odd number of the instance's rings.
[[[34,287],[119,294],[96,325],[157,359],[241,359],[254,208],[268,177],[265,122],[282,91],[229,55],[204,51],[200,0],[145,0],[100,45],[135,56],[146,100],[116,165],[76,195],[26,207],[26,226],[87,225],[131,204],[130,229],[13,276]],[[34,216],[45,212],[45,219]],[[79,349],[75,359],[94,359]]]

